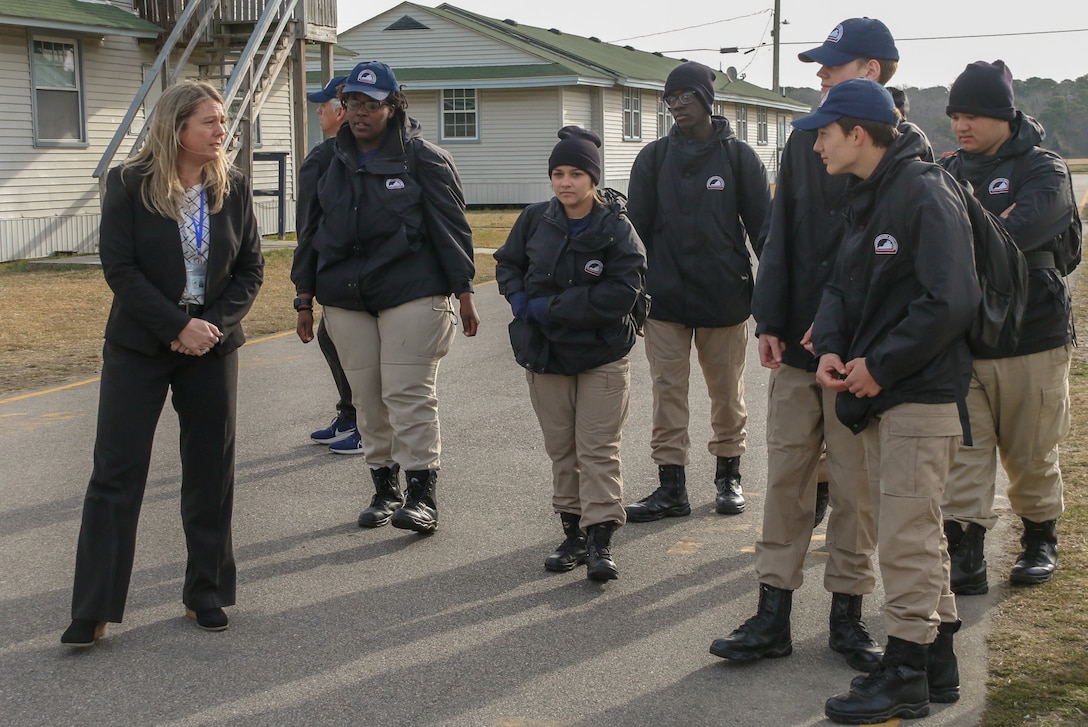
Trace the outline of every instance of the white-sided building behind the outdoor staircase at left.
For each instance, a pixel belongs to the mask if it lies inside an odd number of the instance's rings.
[[[134,7],[133,0],[0,0],[0,261],[95,251],[101,205],[96,169],[174,21],[188,5],[203,2],[219,32],[225,22],[244,26],[272,1],[144,0]],[[323,32],[334,40],[334,0],[300,0],[298,7],[304,4],[311,14],[331,14],[323,20]],[[295,12],[298,17],[302,11]],[[205,46],[211,45],[211,33]],[[305,40],[292,38],[285,41],[287,51],[293,41],[301,51]],[[217,51],[220,59],[240,50],[246,38],[232,42],[228,50]],[[181,56],[181,48],[171,51],[173,62]],[[201,63],[209,57],[198,52],[177,63],[178,77],[209,77],[212,72]],[[296,158],[306,148],[295,133],[305,115],[305,95],[294,90],[305,85],[305,71],[296,79],[290,67],[288,61],[283,73],[269,78],[271,90],[255,123],[252,147],[285,160],[288,231],[294,229]],[[109,165],[128,153],[160,94],[161,82],[156,81]],[[255,189],[276,188],[277,176],[276,163],[254,162]],[[258,197],[257,207],[262,231],[276,232],[277,199]]]

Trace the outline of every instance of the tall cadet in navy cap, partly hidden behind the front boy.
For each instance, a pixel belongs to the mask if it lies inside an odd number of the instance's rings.
[[[820,64],[816,76],[827,94],[850,78],[887,83],[899,66],[899,50],[883,23],[852,17],[799,59]],[[917,137],[928,149],[911,124],[901,124],[900,133]],[[862,600],[876,584],[876,523],[865,449],[836,419],[834,393],[816,382],[816,358],[804,346],[845,227],[850,177],[827,173],[813,150],[815,141],[816,132],[798,128],[786,143],[752,298],[759,361],[770,370],[767,489],[755,545],[759,605],[729,636],[716,639],[710,653],[752,661],[793,652],[793,594],[804,581],[813,523],[820,517],[816,471],[826,452],[827,495],[833,504],[824,569],[824,588],[831,593],[828,645],[852,667],[870,671],[880,663],[880,648],[862,619]]]

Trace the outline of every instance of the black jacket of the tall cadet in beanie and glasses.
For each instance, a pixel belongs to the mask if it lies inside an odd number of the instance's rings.
[[[752,262],[745,230],[758,255],[770,207],[763,162],[737,139],[727,120],[714,116],[713,123],[707,141],[688,138],[673,126],[667,138],[646,145],[628,187],[628,212],[646,246],[646,287],[654,300],[650,317],[689,328],[747,320]],[[658,170],[663,144],[667,150]],[[740,180],[733,178],[728,146]]]

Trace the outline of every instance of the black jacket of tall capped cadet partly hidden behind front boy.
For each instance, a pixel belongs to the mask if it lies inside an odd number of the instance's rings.
[[[901,122],[901,135],[924,145],[923,159],[932,160],[925,134]],[[845,225],[846,185],[850,174],[828,174],[813,149],[816,132],[793,130],[782,150],[775,199],[759,270],[752,295],[756,335],[769,334],[786,344],[782,361],[805,371],[816,370],[816,358],[801,338],[816,318],[824,286],[831,278]]]

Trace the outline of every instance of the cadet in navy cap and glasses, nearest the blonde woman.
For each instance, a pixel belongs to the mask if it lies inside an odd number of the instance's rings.
[[[347,122],[299,171],[290,278],[299,298],[323,306],[360,417],[375,493],[359,527],[432,532],[438,362],[457,329],[450,294],[465,335],[480,323],[472,231],[453,159],[422,139],[392,69],[358,64],[342,98]]]

